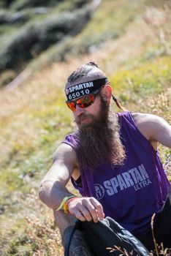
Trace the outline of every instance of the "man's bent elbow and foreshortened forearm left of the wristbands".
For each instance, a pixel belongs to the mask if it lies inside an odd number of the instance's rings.
[[[64,197],[72,195],[58,181],[43,181],[39,188],[39,199],[50,208],[57,209]]]

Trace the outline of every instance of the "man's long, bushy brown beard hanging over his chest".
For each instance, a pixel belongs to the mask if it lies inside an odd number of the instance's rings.
[[[94,116],[91,117],[93,119]],[[79,125],[79,120],[76,122]],[[79,138],[76,153],[80,171],[86,168],[94,171],[102,163],[123,164],[125,151],[119,136],[117,116],[110,112],[109,105],[102,98],[98,117],[94,117],[88,126],[79,127],[76,133]]]

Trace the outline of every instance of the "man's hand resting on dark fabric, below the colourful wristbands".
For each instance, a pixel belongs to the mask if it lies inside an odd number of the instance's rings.
[[[98,222],[99,219],[104,219],[104,212],[101,203],[94,197],[75,197],[68,204],[69,213],[75,215],[82,222]]]

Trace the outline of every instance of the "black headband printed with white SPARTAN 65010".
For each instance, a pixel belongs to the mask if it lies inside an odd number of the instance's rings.
[[[107,78],[101,78],[97,80],[91,80],[86,83],[78,83],[75,86],[70,86],[69,88],[65,89],[67,101],[81,97],[85,94],[91,94],[91,92],[99,89],[106,83],[108,83]]]

